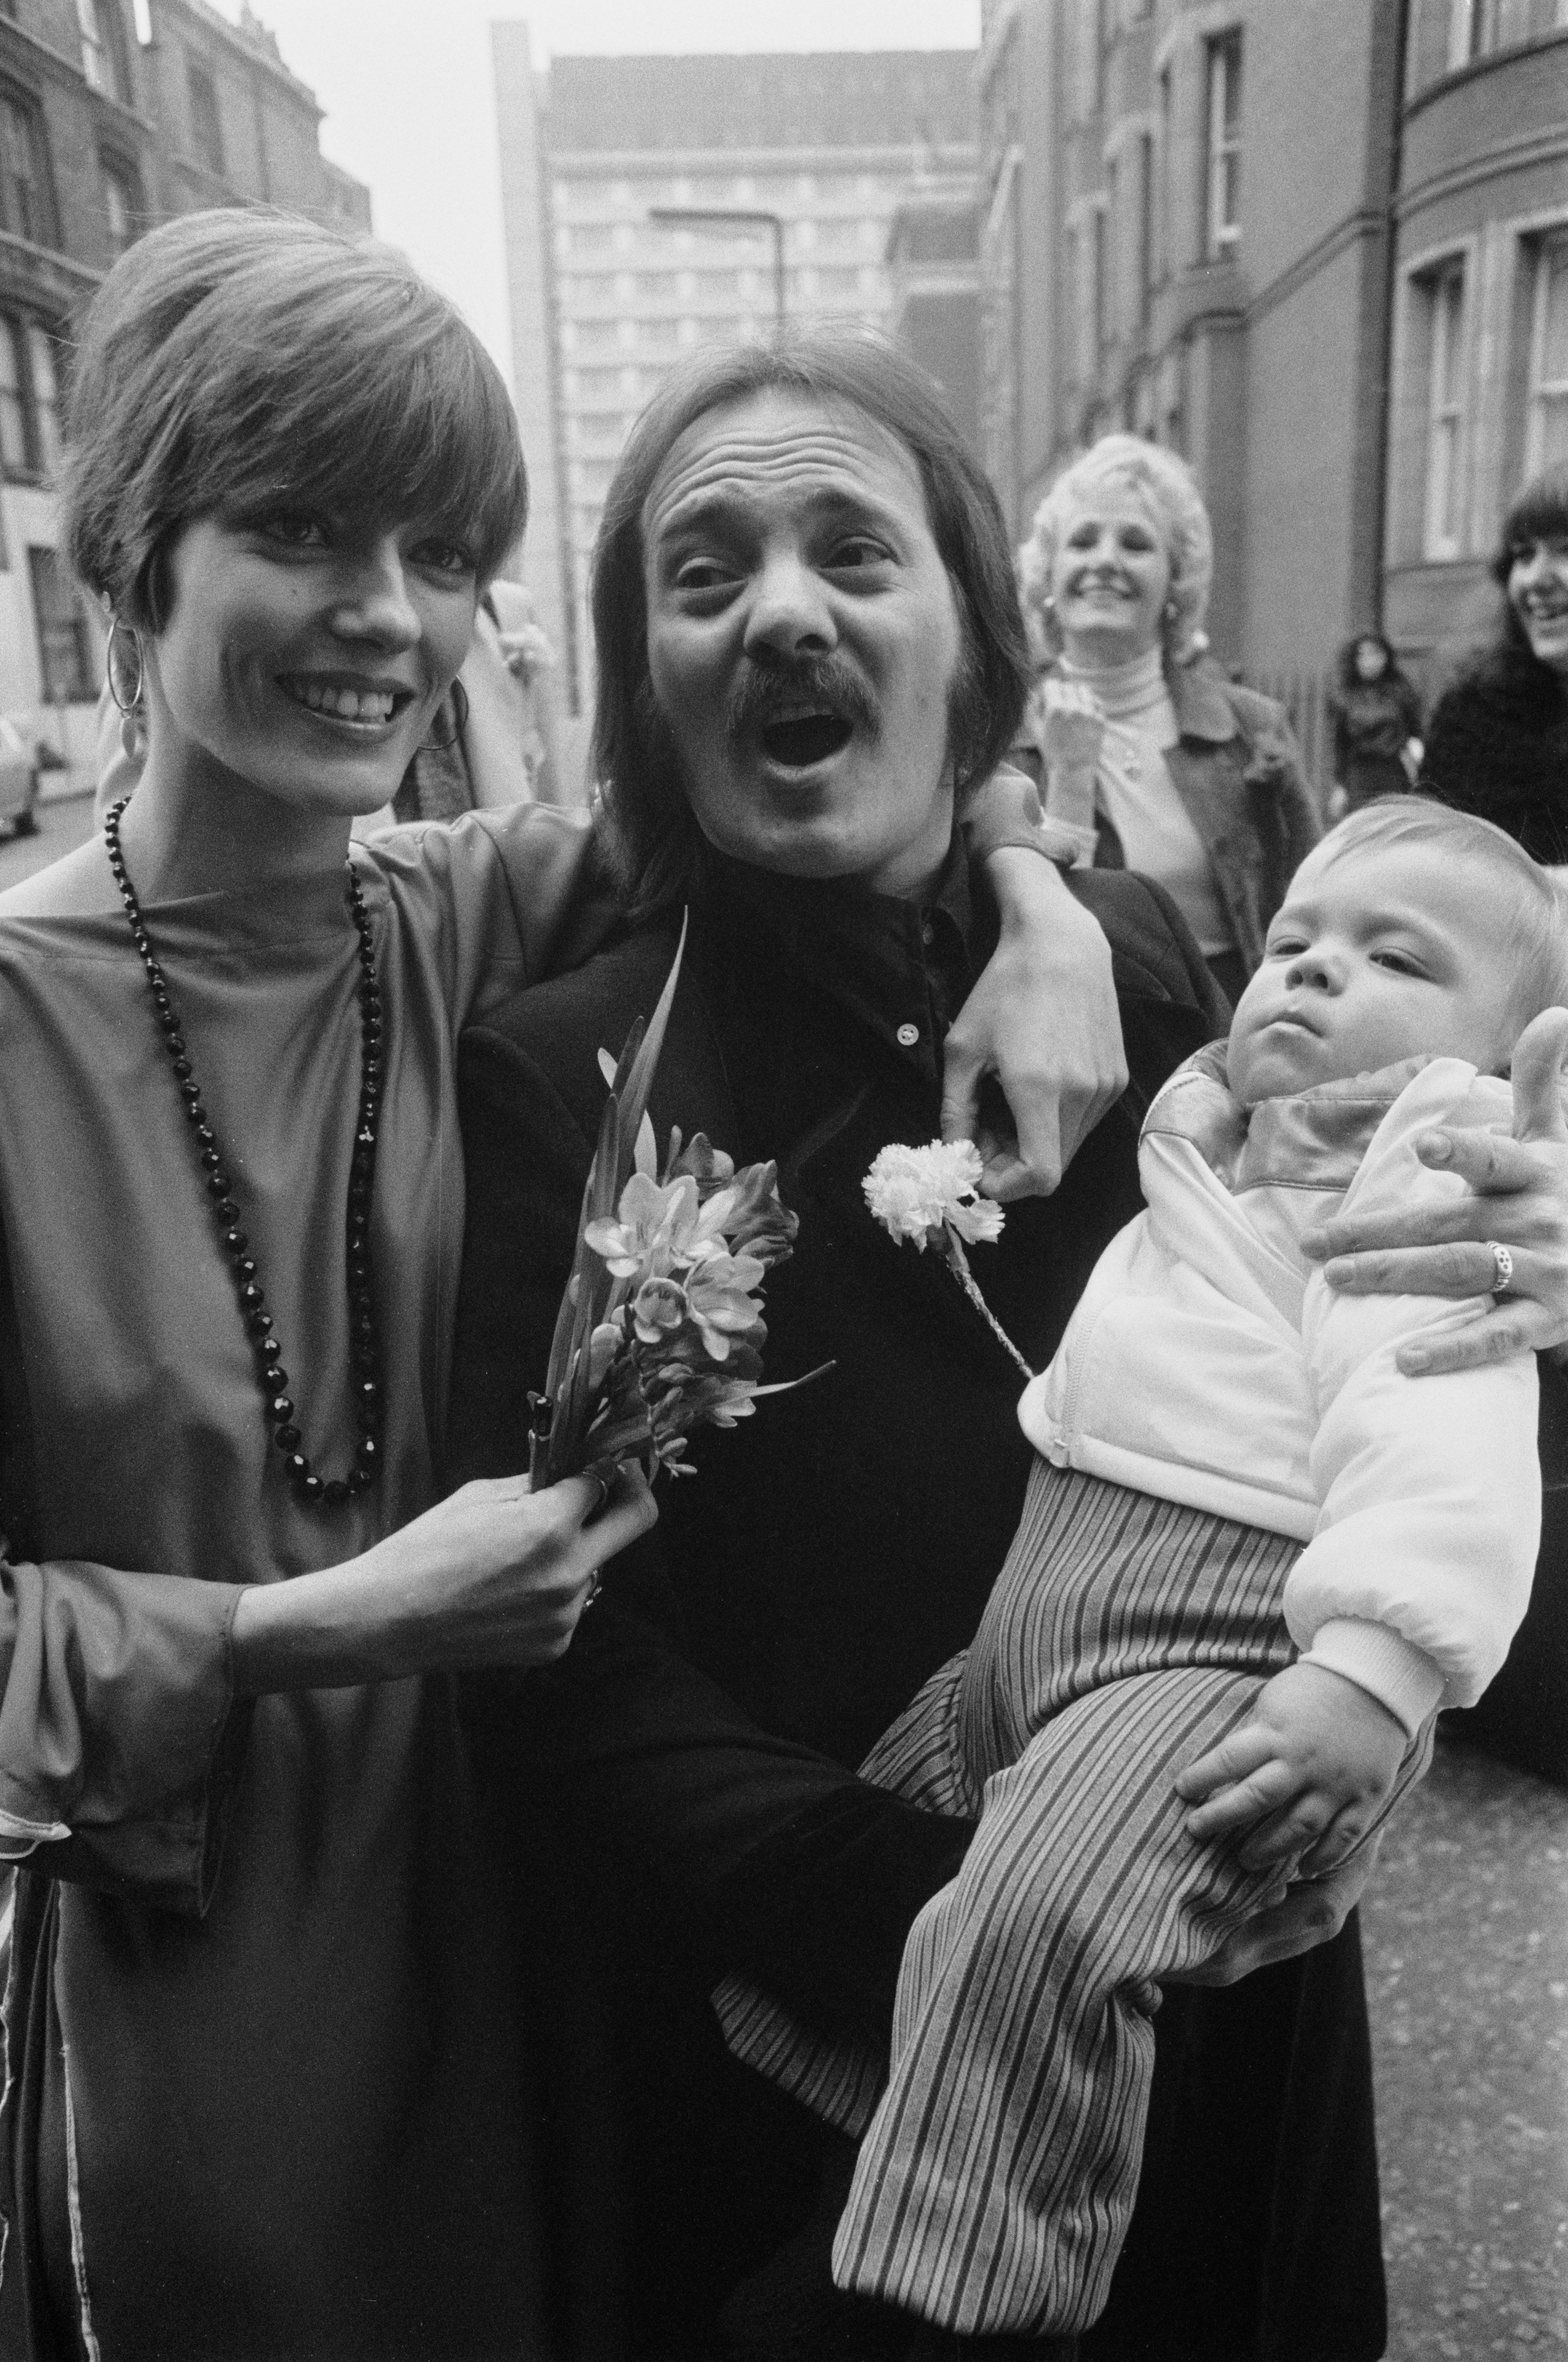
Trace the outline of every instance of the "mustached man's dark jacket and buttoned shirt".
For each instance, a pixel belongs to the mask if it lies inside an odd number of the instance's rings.
[[[1138,1212],[1148,1098],[1223,1020],[1159,888],[1074,886],[1112,940],[1131,1089],[1060,1190],[1008,1207],[1001,1240],[973,1249],[1032,1368]],[[834,1368],[699,1438],[699,1476],[666,1493],[652,1547],[609,1571],[567,1658],[520,1703],[479,1691],[534,2005],[557,2029],[541,2116],[560,2253],[588,2216],[593,2260],[562,2298],[576,2353],[614,2348],[616,2308],[638,2317],[633,2343],[706,2350],[706,2308],[805,2213],[836,2142],[727,2060],[706,2008],[718,1968],[886,2038],[902,1937],[968,1838],[845,1772],[971,1639],[1030,1469],[1013,1363],[937,1257],[895,1247],[862,1195],[881,1146],[935,1136],[940,1037],[987,945],[961,893],[919,909],[734,864],[692,909],[659,1146],[680,1124],[737,1162],[777,1160],[801,1233],[767,1283],[765,1375]],[[673,931],[633,938],[463,1042],[453,1479],[522,1464],[605,1098],[597,1051],[652,1011],[671,954]],[[1145,2197],[1084,2353],[1381,2353],[1353,1930],[1230,1994],[1167,1998]]]

